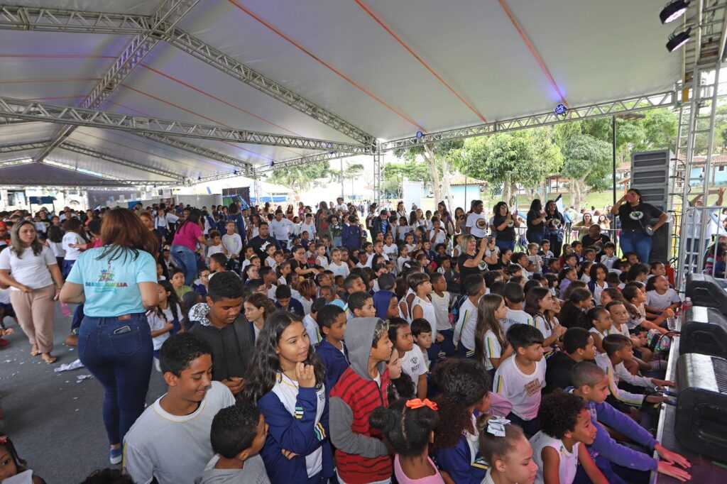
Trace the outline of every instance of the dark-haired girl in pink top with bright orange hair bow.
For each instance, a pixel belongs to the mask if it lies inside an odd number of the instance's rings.
[[[437,404],[427,398],[396,400],[371,413],[371,427],[380,429],[395,451],[394,475],[399,484],[444,484],[429,458],[429,443],[439,424]]]

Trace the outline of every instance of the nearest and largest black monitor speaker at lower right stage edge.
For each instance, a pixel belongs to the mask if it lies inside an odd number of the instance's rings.
[[[674,435],[684,447],[727,461],[727,360],[689,353],[677,362]]]

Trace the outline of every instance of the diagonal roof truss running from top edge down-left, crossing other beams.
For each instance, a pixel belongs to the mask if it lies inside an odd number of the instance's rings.
[[[198,0],[162,0],[161,4],[154,11],[151,17],[150,28],[134,36],[129,44],[126,44],[119,57],[113,61],[111,67],[106,70],[101,80],[94,86],[89,95],[81,102],[81,108],[98,108],[116,90],[116,87],[129,76],[129,73],[139,65],[142,59],[156,47],[159,39],[153,35],[161,27],[162,23],[168,22],[166,28],[173,28],[182,20],[182,17],[197,4]],[[63,126],[50,141],[47,148],[36,156],[35,161],[42,161],[52,150],[55,150],[68,136],[76,130],[74,125]]]

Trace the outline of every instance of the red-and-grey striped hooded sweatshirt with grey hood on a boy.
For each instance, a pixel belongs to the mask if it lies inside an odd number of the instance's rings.
[[[386,362],[377,363],[379,382],[369,375],[369,354],[378,321],[379,318],[348,321],[345,339],[351,366],[331,390],[331,440],[336,447],[338,475],[348,484],[375,483],[393,474],[383,435],[369,428],[369,416],[374,408],[388,406]]]

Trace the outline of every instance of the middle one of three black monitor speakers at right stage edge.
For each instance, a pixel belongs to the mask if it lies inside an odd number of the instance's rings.
[[[682,320],[679,352],[727,358],[727,317],[715,307],[690,307]]]

